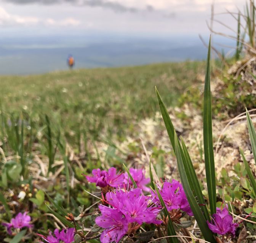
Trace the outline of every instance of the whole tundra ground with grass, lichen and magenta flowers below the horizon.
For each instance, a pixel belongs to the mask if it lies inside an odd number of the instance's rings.
[[[254,2],[227,14],[233,57],[0,77],[1,242],[256,240]]]

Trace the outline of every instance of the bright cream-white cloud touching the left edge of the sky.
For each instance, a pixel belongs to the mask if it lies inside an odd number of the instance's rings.
[[[0,7],[0,25],[35,25],[38,24],[37,17],[19,16],[16,14],[9,14],[4,8]]]

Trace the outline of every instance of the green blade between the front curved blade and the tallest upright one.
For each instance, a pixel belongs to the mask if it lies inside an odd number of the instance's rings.
[[[203,197],[203,193],[202,193],[202,190],[200,188],[200,185],[199,185],[199,182],[198,182],[198,179],[197,179],[197,175],[195,174],[195,169],[193,167],[191,158],[189,156],[189,152],[187,151],[187,147],[186,147],[182,138],[181,138],[181,145],[182,145],[182,150],[183,150],[184,155],[185,155],[186,164],[187,164],[187,167],[189,169],[189,174],[186,173],[186,175],[187,175],[187,177],[190,177],[192,179],[192,184],[194,185],[194,190],[195,190],[194,195],[197,196],[198,204],[200,205],[200,208],[203,211],[203,215],[205,216],[205,219],[210,221],[210,216],[209,216],[208,210],[207,210],[206,205],[205,205],[205,199]],[[190,188],[191,188],[191,186],[190,186]]]

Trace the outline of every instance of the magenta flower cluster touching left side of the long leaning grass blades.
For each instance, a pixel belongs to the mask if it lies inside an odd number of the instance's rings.
[[[163,187],[161,188],[160,186],[158,186],[158,188],[168,211],[171,211],[173,209],[181,209],[182,211],[185,211],[188,215],[193,216],[186,194],[179,181],[176,181],[174,179],[171,183],[165,181],[163,183]],[[152,202],[161,205],[157,194],[152,192],[152,197]]]

